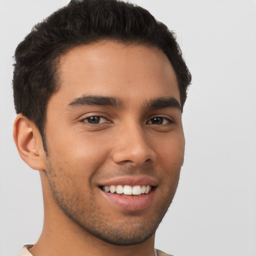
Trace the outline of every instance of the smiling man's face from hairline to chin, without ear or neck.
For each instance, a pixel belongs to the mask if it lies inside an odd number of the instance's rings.
[[[104,41],[68,51],[59,72],[45,126],[53,198],[89,234],[140,243],[164,216],[183,162],[172,66],[156,47]]]

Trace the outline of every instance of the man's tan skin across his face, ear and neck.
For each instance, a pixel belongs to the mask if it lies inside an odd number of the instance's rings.
[[[148,103],[180,102],[169,60],[156,47],[101,41],[69,50],[59,72],[61,86],[47,105],[47,155],[30,120],[19,114],[14,123],[19,154],[42,181],[43,230],[30,252],[154,255],[154,233],[174,196],[184,153],[180,108]],[[118,104],[88,105],[84,96]],[[99,123],[89,123],[91,116]],[[140,175],[156,182],[145,207],[126,210],[102,196],[105,180]]]

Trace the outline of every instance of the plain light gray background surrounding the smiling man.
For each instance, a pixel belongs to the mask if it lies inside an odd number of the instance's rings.
[[[37,171],[12,141],[12,55],[68,0],[0,0],[0,255],[36,242]],[[192,73],[185,162],[155,246],[177,256],[256,255],[256,1],[135,0],[175,30]]]

